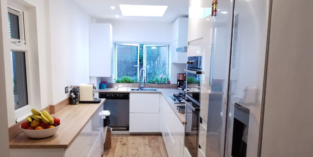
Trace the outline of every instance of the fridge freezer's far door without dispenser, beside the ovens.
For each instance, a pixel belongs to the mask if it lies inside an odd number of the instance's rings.
[[[217,16],[205,20],[203,37],[200,117],[202,125],[207,124],[206,147],[202,149],[207,157],[224,156],[233,1],[218,1],[218,10]]]

